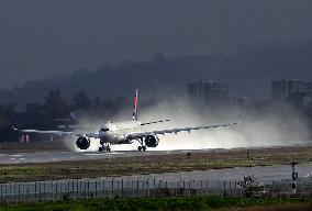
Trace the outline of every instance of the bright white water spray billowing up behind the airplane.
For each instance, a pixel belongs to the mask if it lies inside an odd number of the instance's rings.
[[[129,111],[122,111],[115,119],[125,119],[126,116],[129,116]],[[261,111],[242,108],[198,111],[187,99],[172,98],[170,101],[161,101],[142,110],[140,115],[141,120],[159,118],[168,118],[171,121],[157,126],[153,124],[146,125],[144,131],[159,130],[159,127],[179,127],[186,124],[215,124],[237,119],[242,120],[243,123],[233,129],[226,127],[160,135],[159,145],[156,148],[151,148],[153,151],[288,145],[300,144],[309,138],[309,130],[304,119],[291,108],[282,106],[272,106]],[[85,119],[81,123],[90,124],[92,120]],[[94,131],[99,125],[99,123],[93,124]],[[116,145],[113,146],[113,149],[129,151],[136,149],[137,146],[138,144],[136,143],[132,145]],[[97,142],[91,142],[88,151],[97,151],[98,147]]]

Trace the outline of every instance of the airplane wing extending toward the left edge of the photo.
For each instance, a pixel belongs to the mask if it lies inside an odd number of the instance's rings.
[[[12,126],[14,131],[20,131],[22,133],[38,133],[38,134],[51,134],[51,135],[69,135],[69,136],[87,136],[87,137],[99,137],[99,134],[97,133],[82,133],[82,132],[68,132],[68,131],[40,131],[40,130],[20,130],[14,126]]]

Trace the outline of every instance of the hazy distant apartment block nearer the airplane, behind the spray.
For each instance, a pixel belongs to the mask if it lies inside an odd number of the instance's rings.
[[[229,86],[212,80],[200,80],[188,85],[190,99],[200,106],[224,104],[229,102]]]

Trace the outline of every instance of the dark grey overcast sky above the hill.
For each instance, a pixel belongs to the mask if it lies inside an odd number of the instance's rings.
[[[0,87],[311,35],[311,0],[1,0]]]

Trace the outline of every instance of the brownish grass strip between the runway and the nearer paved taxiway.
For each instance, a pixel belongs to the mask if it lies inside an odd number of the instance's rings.
[[[312,147],[229,149],[170,155],[0,165],[0,182],[81,179],[215,168],[312,164]]]

